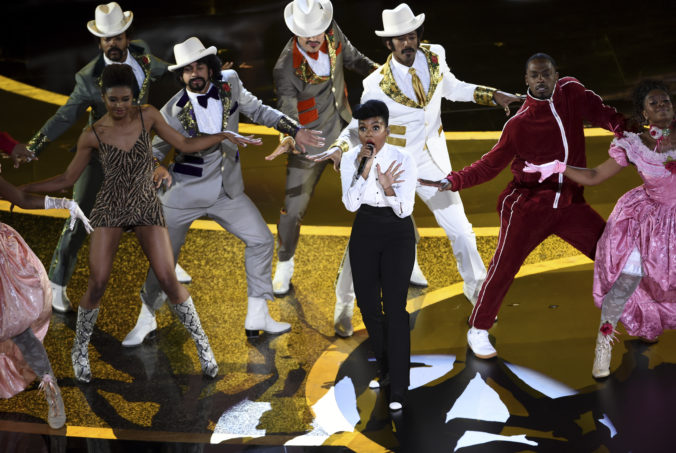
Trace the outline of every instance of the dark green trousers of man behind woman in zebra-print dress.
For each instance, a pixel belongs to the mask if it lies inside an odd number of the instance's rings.
[[[82,212],[89,217],[94,207],[96,195],[103,183],[103,168],[98,156],[92,156],[80,177],[73,186],[73,199],[80,205]],[[49,266],[49,280],[57,285],[66,286],[73,276],[77,264],[77,253],[87,238],[82,222],[75,222],[75,228],[69,229],[70,219],[66,219],[61,237],[54,250]]]

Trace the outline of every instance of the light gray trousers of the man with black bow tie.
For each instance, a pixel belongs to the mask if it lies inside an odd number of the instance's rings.
[[[244,267],[248,286],[247,295],[266,300],[274,299],[272,294],[272,255],[275,240],[258,208],[244,193],[235,198],[228,198],[221,191],[218,200],[206,208],[170,208],[164,206],[164,217],[169,229],[174,262],[178,260],[190,224],[202,216],[213,219],[246,245]],[[223,272],[227,272],[227,270],[224,269]],[[156,309],[159,308],[159,305],[163,302],[163,300],[158,299],[162,289],[152,269],[148,271],[143,293],[144,300],[147,303]]]

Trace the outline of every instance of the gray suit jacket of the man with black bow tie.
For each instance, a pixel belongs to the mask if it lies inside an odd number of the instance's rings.
[[[223,79],[217,84],[223,103],[222,130],[237,132],[239,115],[243,113],[254,123],[279,130],[280,119],[289,118],[278,110],[264,105],[242,85],[233,70],[222,72]],[[193,105],[185,89],[179,91],[160,110],[167,123],[186,137],[201,135],[195,120]],[[153,154],[163,160],[171,145],[156,136]],[[174,163],[169,170],[173,183],[160,194],[165,206],[171,208],[195,208],[213,205],[221,192],[234,198],[244,192],[242,169],[237,146],[228,140],[196,154],[183,154],[176,150]]]

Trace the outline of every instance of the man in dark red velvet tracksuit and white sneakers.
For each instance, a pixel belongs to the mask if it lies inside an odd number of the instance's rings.
[[[526,101],[505,123],[493,149],[468,167],[451,172],[448,183],[437,183],[440,190],[466,189],[494,178],[512,163],[514,179],[498,199],[498,245],[469,318],[467,342],[482,359],[497,355],[488,329],[528,254],[555,234],[594,259],[596,242],[605,226],[585,201],[582,186],[561,174],[539,183],[539,174],[524,173],[526,161],[543,164],[558,159],[586,167],[583,121],[612,131],[625,128],[624,117],[577,79],[559,79],[549,55],[538,53],[528,59],[526,84]]]

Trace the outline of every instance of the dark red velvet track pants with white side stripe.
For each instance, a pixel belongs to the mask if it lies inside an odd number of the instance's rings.
[[[605,227],[603,218],[587,203],[554,209],[551,202],[530,200],[516,189],[504,197],[498,212],[498,246],[469,318],[477,329],[493,325],[514,276],[528,254],[549,235],[559,236],[594,259],[596,242]]]

